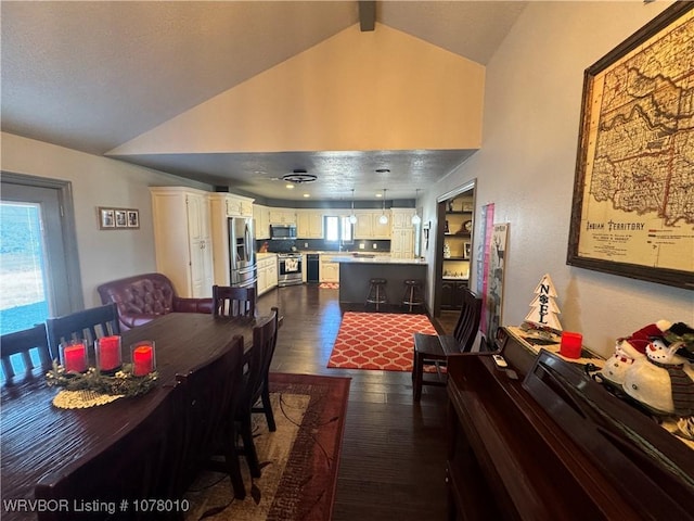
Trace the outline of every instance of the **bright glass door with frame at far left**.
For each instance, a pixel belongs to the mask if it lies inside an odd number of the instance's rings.
[[[70,183],[2,173],[0,332],[83,307]]]

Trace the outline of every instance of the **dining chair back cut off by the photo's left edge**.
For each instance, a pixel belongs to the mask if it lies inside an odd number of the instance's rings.
[[[0,336],[0,361],[8,382],[12,381],[17,371],[30,374],[31,369],[39,366],[48,370],[51,367],[51,353],[48,348],[46,325],[37,323],[33,328]]]

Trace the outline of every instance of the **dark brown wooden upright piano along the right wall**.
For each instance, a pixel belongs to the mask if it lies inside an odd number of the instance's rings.
[[[692,446],[582,366],[494,344],[449,357],[449,520],[694,520]]]

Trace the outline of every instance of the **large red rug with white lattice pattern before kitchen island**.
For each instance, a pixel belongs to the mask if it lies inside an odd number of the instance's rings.
[[[327,367],[411,371],[414,333],[437,334],[426,315],[345,313]]]

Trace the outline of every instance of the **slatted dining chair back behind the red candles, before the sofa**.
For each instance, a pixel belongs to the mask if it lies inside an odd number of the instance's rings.
[[[115,303],[82,309],[62,317],[46,320],[48,345],[53,359],[59,358],[61,342],[83,339],[88,345],[94,340],[112,334],[120,334],[118,308]]]

